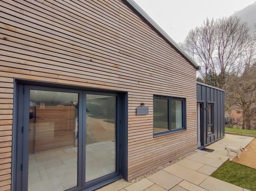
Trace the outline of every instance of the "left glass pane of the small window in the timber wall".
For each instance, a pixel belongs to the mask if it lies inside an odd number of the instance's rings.
[[[168,130],[168,100],[153,99],[153,132]]]

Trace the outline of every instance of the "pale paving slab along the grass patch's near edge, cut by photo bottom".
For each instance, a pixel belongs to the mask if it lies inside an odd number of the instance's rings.
[[[207,177],[201,184],[200,187],[205,188],[209,191],[242,191],[243,188],[230,184],[228,182],[220,181],[217,178]]]

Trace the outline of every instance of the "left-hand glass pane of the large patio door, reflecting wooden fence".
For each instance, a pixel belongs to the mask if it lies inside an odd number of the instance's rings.
[[[30,90],[28,191],[77,186],[78,94]]]

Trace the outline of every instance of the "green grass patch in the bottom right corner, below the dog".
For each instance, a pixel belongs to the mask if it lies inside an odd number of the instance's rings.
[[[228,161],[221,165],[211,176],[221,181],[256,191],[256,169],[254,168]]]

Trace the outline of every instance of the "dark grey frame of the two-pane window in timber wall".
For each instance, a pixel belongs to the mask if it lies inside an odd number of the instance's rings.
[[[153,130],[153,136],[161,136],[161,135],[168,135],[175,132],[181,132],[187,130],[187,124],[186,124],[186,98],[182,97],[169,97],[169,96],[160,96],[160,95],[154,95],[153,99],[165,99],[168,100],[168,130],[161,131],[161,132],[154,132]],[[182,127],[181,128],[171,128],[171,101],[181,101],[182,104]],[[154,108],[154,105],[153,105]],[[153,120],[154,120],[154,113],[153,113]],[[154,129],[154,126],[153,126]]]

